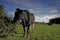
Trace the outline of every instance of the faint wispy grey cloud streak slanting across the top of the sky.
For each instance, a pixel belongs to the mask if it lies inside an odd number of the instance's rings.
[[[40,3],[39,1],[36,2],[35,1],[30,1],[30,0],[6,0],[6,2],[11,2],[14,3],[16,5],[22,5],[28,8],[41,8],[44,7],[44,5],[42,3]]]

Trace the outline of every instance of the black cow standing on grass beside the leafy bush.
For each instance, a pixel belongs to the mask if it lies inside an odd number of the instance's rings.
[[[31,25],[32,25],[32,29],[34,30],[34,20],[35,20],[34,15],[31,14],[28,10],[21,10],[19,8],[16,9],[13,22],[21,21],[24,30],[23,36],[25,36],[25,27],[27,27],[28,37],[29,37],[29,32],[30,32],[29,30]]]

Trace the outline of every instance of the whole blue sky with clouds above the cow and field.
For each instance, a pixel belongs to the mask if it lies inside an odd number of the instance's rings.
[[[14,17],[16,8],[33,13],[35,22],[47,23],[49,19],[60,17],[60,0],[0,0],[0,4],[5,6],[10,18]]]

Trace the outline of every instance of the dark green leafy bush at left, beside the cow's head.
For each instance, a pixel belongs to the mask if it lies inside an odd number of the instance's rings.
[[[6,17],[4,6],[0,5],[0,37],[6,37],[14,31],[15,27]]]

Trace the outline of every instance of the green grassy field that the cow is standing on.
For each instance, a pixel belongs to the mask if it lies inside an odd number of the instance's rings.
[[[22,37],[21,25],[16,25],[17,34],[14,36],[9,35],[7,38],[0,38],[0,40],[28,40],[26,37]],[[39,24],[35,23],[34,33],[31,33],[31,40],[60,40],[60,25],[53,24]]]

